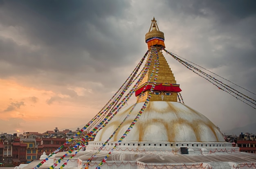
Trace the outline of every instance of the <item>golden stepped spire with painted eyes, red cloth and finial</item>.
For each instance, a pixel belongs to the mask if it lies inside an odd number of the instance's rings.
[[[164,41],[158,40],[160,39],[159,37],[162,37],[162,39],[164,39],[164,33],[159,31],[155,17],[151,21],[152,22],[151,22],[149,32],[146,33],[146,43],[148,44],[148,48],[151,48],[151,47],[157,48],[159,70],[158,70],[158,77],[156,81],[155,91],[153,92],[153,95],[150,101],[177,101],[177,92],[181,91],[179,87],[180,85],[176,84],[175,77],[173,76],[173,72],[171,71],[170,66],[168,65],[166,59],[164,58],[164,55],[161,52],[161,50],[165,48]],[[152,58],[150,67],[148,68],[148,72],[139,83],[138,88],[136,89],[136,92],[135,92],[135,96],[137,97],[138,102],[146,101],[148,97],[148,93],[150,92],[151,85],[153,84],[154,78],[151,78],[150,80],[149,78],[153,70],[155,60],[157,60],[157,56],[153,53],[150,53],[150,55],[148,56],[148,59],[150,57],[153,57],[153,58]],[[155,77],[155,73],[156,71],[154,72],[153,77]]]

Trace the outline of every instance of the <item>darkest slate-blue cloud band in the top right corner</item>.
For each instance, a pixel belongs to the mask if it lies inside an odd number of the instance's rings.
[[[167,1],[171,9],[180,11],[186,15],[194,17],[215,18],[220,24],[231,24],[238,20],[243,20],[256,14],[256,2],[254,0],[235,0],[235,1]]]

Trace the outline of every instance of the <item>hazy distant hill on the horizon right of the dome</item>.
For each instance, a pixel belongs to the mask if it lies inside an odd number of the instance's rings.
[[[252,134],[256,134],[256,123],[252,123],[249,125],[246,125],[244,127],[238,127],[238,128],[234,128],[234,129],[230,129],[230,130],[223,130],[221,131],[222,134],[236,134],[237,136],[239,136],[239,134],[243,133],[252,133]]]

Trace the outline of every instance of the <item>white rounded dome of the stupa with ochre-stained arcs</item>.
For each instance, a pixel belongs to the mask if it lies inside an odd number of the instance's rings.
[[[105,141],[130,112],[133,105],[120,110],[103,127],[94,141]],[[133,121],[143,103],[138,103],[126,122],[110,141],[118,141]],[[124,141],[225,142],[222,133],[207,117],[189,106],[171,101],[149,102]]]

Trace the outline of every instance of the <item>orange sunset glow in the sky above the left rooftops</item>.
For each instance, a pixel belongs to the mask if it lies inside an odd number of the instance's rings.
[[[2,112],[0,129],[2,132],[4,132],[3,129],[14,126],[18,129],[13,133],[20,131],[45,132],[46,129],[53,129],[56,126],[72,128],[80,127],[79,125],[85,123],[81,118],[70,116],[72,112],[74,113],[72,115],[78,116],[78,112],[85,111],[83,105],[66,103],[65,101],[47,104],[47,101],[56,95],[53,91],[29,88],[19,85],[14,80],[3,79],[0,79],[0,91],[2,95],[0,97],[0,111]],[[70,123],[69,121],[59,123],[67,116],[69,116]],[[76,121],[75,125],[72,121]],[[44,125],[47,125],[47,127],[44,127]],[[38,126],[40,129],[37,127],[34,130],[34,126]]]

